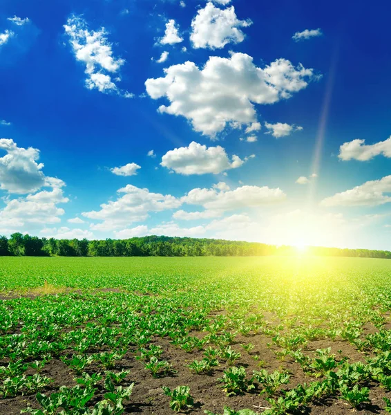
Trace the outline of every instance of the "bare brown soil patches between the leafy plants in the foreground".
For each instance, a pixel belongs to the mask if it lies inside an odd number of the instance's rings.
[[[192,333],[196,335],[196,333]],[[247,375],[251,376],[252,371],[259,370],[258,362],[263,360],[265,369],[269,371],[287,369],[292,373],[291,381],[287,387],[292,388],[303,382],[312,382],[316,380],[310,376],[304,374],[300,365],[291,359],[279,360],[276,358],[271,349],[267,347],[267,343],[270,342],[270,338],[266,338],[264,335],[250,335],[247,337],[238,336],[233,344],[233,349],[240,351],[242,357],[236,362],[236,365],[242,365],[247,371]],[[240,344],[249,343],[254,344],[254,349],[247,353]],[[210,374],[193,374],[186,366],[193,360],[202,359],[202,351],[193,351],[187,353],[182,349],[179,349],[173,344],[170,344],[168,339],[156,339],[155,344],[160,344],[163,347],[164,353],[162,358],[169,360],[173,365],[173,368],[178,373],[164,378],[153,378],[151,373],[144,369],[144,362],[135,359],[135,350],[129,350],[126,356],[117,362],[117,366],[114,370],[129,369],[130,374],[127,376],[123,385],[129,385],[131,382],[135,382],[133,394],[131,400],[126,405],[124,413],[142,413],[142,414],[154,414],[154,415],[171,415],[172,410],[169,407],[169,398],[164,396],[162,386],[168,386],[171,389],[179,385],[188,385],[191,389],[191,395],[195,399],[196,406],[191,409],[191,414],[202,414],[205,409],[208,409],[217,414],[222,413],[222,409],[225,405],[233,409],[250,408],[258,412],[263,412],[264,409],[260,407],[268,407],[269,404],[265,399],[265,395],[259,395],[259,390],[255,390],[252,393],[246,393],[242,396],[225,396],[225,393],[220,388],[218,378],[222,376],[222,371],[227,368],[227,364],[222,361],[220,366],[213,370]],[[316,349],[323,349],[325,347],[332,347],[332,353],[337,353],[338,350],[342,351],[343,356],[347,356],[351,361],[358,361],[365,358],[365,355],[360,351],[357,351],[347,342],[327,342],[321,340],[317,342],[310,342],[307,346],[306,353],[313,354]],[[260,360],[254,360],[254,356],[258,355]],[[29,369],[30,370],[30,369]],[[99,365],[91,365],[86,370],[89,373],[97,373],[99,371],[104,372],[104,369]],[[33,374],[33,371],[29,371],[28,374]],[[51,360],[44,370],[41,372],[44,376],[53,378],[54,382],[46,391],[46,394],[50,394],[57,390],[59,386],[66,385],[71,387],[76,385],[74,378],[76,375],[71,369],[69,369],[61,360]],[[98,385],[99,393],[93,400],[90,401],[91,405],[95,405],[98,400],[103,399],[104,389],[103,385]],[[357,411],[360,414],[385,414],[383,408],[383,396],[390,397],[391,394],[385,393],[384,389],[371,385],[372,405],[363,407],[363,409]],[[9,398],[0,400],[0,414],[1,415],[16,415],[19,414],[21,409],[25,409],[28,406],[39,407],[35,396],[17,396],[16,398]],[[332,399],[318,403],[318,405],[311,405],[307,414],[321,415],[321,414],[352,414],[352,409],[343,400]]]

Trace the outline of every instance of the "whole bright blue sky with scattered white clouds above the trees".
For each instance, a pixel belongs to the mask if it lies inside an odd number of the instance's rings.
[[[1,1],[0,234],[391,249],[389,12]]]

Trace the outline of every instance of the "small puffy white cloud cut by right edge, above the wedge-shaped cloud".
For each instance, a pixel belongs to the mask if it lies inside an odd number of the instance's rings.
[[[338,158],[341,158],[341,160],[367,161],[381,154],[391,158],[391,136],[387,140],[375,142],[372,145],[365,145],[365,140],[358,139],[344,142],[339,147]]]

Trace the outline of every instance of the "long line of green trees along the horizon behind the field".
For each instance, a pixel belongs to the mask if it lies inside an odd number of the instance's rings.
[[[225,241],[179,237],[140,237],[131,239],[55,239],[14,233],[0,237],[0,256],[15,257],[247,257],[296,255],[290,246],[266,243]],[[332,257],[366,257],[391,259],[386,250],[309,247],[308,253]]]

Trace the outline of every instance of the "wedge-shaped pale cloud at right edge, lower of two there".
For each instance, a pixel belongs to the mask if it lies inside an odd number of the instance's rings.
[[[391,176],[385,176],[380,180],[368,181],[361,186],[345,192],[336,193],[321,201],[323,206],[376,206],[390,203]]]

